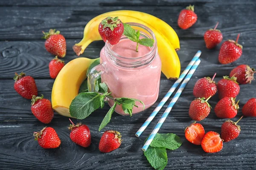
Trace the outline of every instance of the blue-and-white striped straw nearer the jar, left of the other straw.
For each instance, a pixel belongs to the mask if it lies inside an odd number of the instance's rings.
[[[182,72],[180,77],[176,80],[176,82],[172,85],[172,88],[167,92],[167,94],[163,97],[161,102],[157,105],[157,107],[154,109],[154,111],[151,113],[151,115],[148,117],[148,119],[143,123],[143,125],[140,127],[140,129],[137,131],[135,136],[139,137],[141,133],[145,130],[145,128],[148,127],[149,123],[154,119],[154,117],[157,115],[157,113],[160,111],[160,109],[163,107],[163,105],[166,103],[166,101],[170,98],[172,93],[175,91],[175,89],[180,85],[180,82],[183,80],[183,78],[186,76],[186,74],[189,72],[190,68],[194,65],[195,61],[201,56],[201,51],[198,51],[195,56],[192,58],[192,60],[189,62],[185,70]]]

